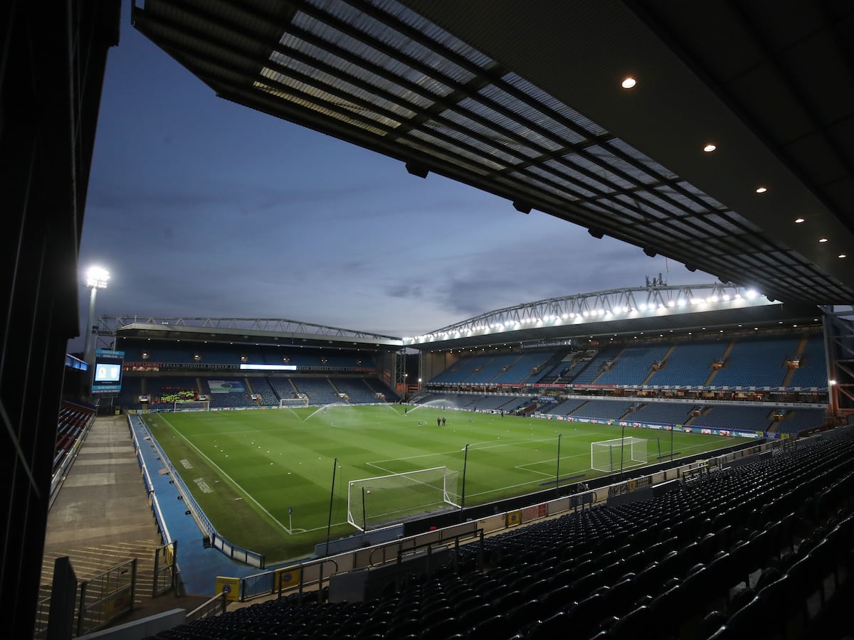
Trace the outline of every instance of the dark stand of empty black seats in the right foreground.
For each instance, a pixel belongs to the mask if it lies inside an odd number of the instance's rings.
[[[294,595],[155,637],[841,637],[852,454],[852,429],[838,430],[655,497],[464,545],[366,602]]]

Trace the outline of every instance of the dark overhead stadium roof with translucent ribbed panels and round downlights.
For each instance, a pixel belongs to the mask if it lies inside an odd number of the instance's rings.
[[[851,3],[540,7],[145,0],[132,20],[219,96],[415,175],[776,300],[854,300]]]

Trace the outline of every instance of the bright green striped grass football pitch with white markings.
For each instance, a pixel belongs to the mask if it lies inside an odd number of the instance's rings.
[[[442,417],[445,425],[437,426]],[[590,468],[590,444],[621,434],[608,425],[429,405],[199,411],[145,419],[216,530],[232,544],[263,553],[268,564],[311,554],[326,539],[330,514],[330,539],[356,533],[347,522],[353,480],[446,467],[459,472],[461,484],[465,465],[470,507],[553,489],[558,472],[562,486],[600,475]],[[629,435],[647,439],[649,463],[670,457],[670,432],[627,429]],[[740,441],[673,434],[676,457]],[[624,468],[629,466],[627,457]]]

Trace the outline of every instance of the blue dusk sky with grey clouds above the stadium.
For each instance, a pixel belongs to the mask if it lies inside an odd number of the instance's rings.
[[[659,272],[670,284],[714,281],[227,102],[126,13],[80,247],[81,269],[111,274],[97,315],[289,318],[403,336]]]

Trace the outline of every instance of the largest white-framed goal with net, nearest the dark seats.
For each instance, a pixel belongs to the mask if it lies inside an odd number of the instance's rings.
[[[347,521],[367,531],[442,509],[459,509],[459,472],[447,467],[352,480]]]

